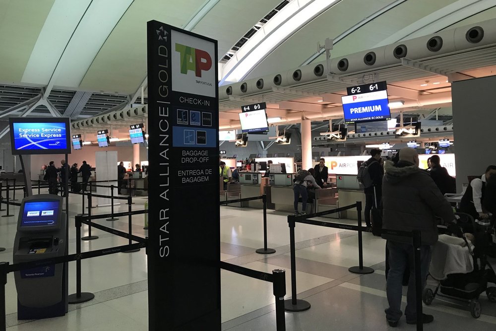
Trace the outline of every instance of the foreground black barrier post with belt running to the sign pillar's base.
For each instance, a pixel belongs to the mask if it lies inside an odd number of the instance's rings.
[[[233,265],[227,262],[220,262],[220,267],[224,270],[242,274],[255,279],[272,283],[273,294],[276,299],[276,330],[285,331],[286,322],[284,319],[284,296],[286,295],[286,270],[274,269],[272,273],[248,269],[244,266]]]

